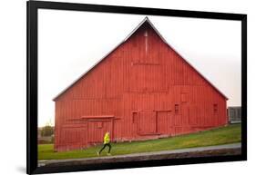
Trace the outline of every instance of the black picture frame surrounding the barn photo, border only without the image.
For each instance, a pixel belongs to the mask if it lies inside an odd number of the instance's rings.
[[[197,157],[172,160],[140,160],[84,166],[37,167],[37,14],[38,9],[87,12],[108,12],[133,15],[161,15],[241,21],[241,155]],[[81,170],[112,170],[124,168],[167,166],[222,161],[247,160],[247,15],[188,10],[170,10],[115,5],[86,5],[44,1],[26,2],[27,24],[27,88],[26,88],[26,173],[53,173]]]

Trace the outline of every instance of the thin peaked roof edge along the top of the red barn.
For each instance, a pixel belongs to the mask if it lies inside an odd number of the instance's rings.
[[[80,77],[77,78],[76,81],[74,81],[73,83],[71,83],[69,86],[67,86],[66,89],[64,89],[62,92],[59,92],[56,97],[53,99],[53,101],[56,101],[56,99],[61,96],[64,92],[67,92],[67,90],[69,88],[71,88],[75,83],[77,83],[82,77],[84,77],[87,73],[89,73],[93,68],[95,68],[97,66],[98,63],[101,63],[105,58],[108,57],[108,55],[110,53],[113,53],[121,44],[125,43],[134,33],[136,33],[138,31],[138,29],[143,25],[143,24],[146,24],[148,23],[152,28],[153,30],[156,32],[156,34],[159,35],[159,37],[161,38],[161,40],[167,44],[174,52],[178,53],[165,39],[164,37],[159,33],[158,29],[154,26],[154,24],[152,24],[149,19],[148,19],[148,16],[146,16],[138,25],[137,27],[130,33],[128,34],[128,36],[121,42],[119,43],[116,47],[114,47],[110,52],[108,52],[103,58],[101,58],[97,63],[95,63],[92,67],[90,67],[86,73],[83,73]],[[210,81],[202,74],[200,73],[191,63],[189,63],[180,53],[178,53],[179,56],[186,62],[189,64],[190,67],[192,67],[197,73],[200,74],[200,76],[205,79],[208,83],[210,83]],[[210,85],[217,91],[217,92],[220,92],[220,90],[215,86],[213,85],[212,83],[210,83]],[[224,93],[220,92],[220,94],[226,99],[228,100],[229,98],[224,95]]]

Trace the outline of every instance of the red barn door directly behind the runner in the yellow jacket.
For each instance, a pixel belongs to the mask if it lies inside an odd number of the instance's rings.
[[[99,143],[103,142],[104,135],[107,131],[110,131],[110,138],[112,135],[112,124],[111,120],[108,121],[88,121],[87,138],[88,143]]]

